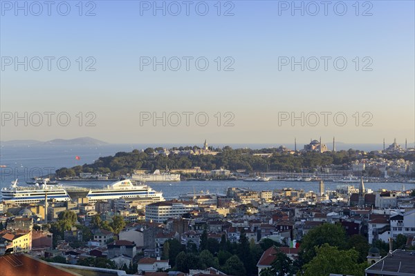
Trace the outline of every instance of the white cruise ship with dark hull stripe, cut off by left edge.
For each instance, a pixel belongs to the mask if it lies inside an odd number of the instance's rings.
[[[9,188],[1,189],[1,196],[3,200],[14,201],[16,204],[37,203],[45,199],[47,194],[48,199],[55,199],[56,201],[70,201],[66,190],[62,186],[47,185],[46,183],[35,186],[25,187],[17,186],[17,179],[12,182]]]

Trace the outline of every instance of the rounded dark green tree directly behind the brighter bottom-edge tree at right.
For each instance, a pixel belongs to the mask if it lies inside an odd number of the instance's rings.
[[[302,262],[308,263],[315,257],[316,246],[329,244],[330,246],[338,246],[340,249],[346,247],[346,231],[338,224],[322,224],[308,231],[302,239],[299,250],[299,257]]]

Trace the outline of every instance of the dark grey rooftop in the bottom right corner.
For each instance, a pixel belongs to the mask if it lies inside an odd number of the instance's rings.
[[[365,270],[366,275],[415,275],[415,251],[396,249]]]

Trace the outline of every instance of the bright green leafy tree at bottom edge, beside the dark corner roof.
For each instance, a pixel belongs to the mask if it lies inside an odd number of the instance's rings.
[[[358,264],[359,253],[354,249],[338,250],[335,246],[315,246],[316,256],[303,266],[303,276],[340,275],[365,276],[367,264]]]

